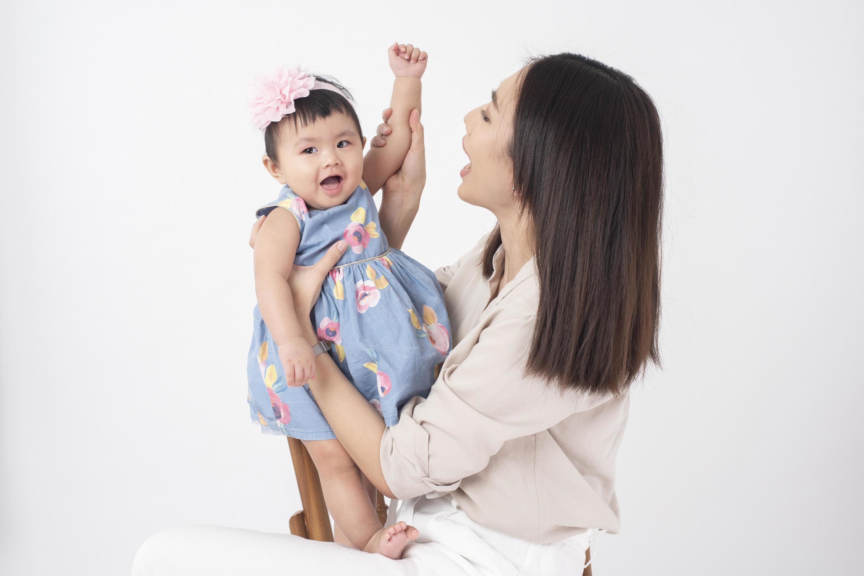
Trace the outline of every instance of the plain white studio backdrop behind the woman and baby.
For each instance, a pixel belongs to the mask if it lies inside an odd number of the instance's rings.
[[[596,573],[860,571],[861,3],[2,10],[0,573],[128,573],[181,523],[288,532],[288,446],[245,401],[246,241],[279,189],[245,87],[312,66],[371,136],[392,41],[429,52],[403,250],[431,269],[494,225],[456,194],[462,118],[524,57],[616,66],[663,117],[665,367],[633,392]]]

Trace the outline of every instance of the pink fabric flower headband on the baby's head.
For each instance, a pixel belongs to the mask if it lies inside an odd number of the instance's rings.
[[[271,122],[278,122],[295,111],[294,101],[309,95],[310,90],[332,90],[345,96],[339,88],[308,75],[308,68],[299,64],[277,67],[269,76],[258,74],[249,85],[246,104],[251,122],[264,130]]]

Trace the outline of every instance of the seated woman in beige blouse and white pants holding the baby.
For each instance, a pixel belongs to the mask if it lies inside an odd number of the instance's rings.
[[[625,73],[565,53],[530,60],[465,124],[471,163],[459,196],[498,225],[435,270],[454,347],[429,396],[384,427],[327,354],[308,382],[365,477],[402,501],[389,522],[406,522],[416,538],[403,560],[194,526],[152,536],[134,573],[572,574],[594,530],[619,529],[614,462],[627,390],[659,364],[658,113]],[[416,112],[411,130],[379,212],[397,248],[425,183]],[[389,132],[379,126],[373,144]],[[308,312],[338,244],[290,275],[309,345],[319,339]]]

